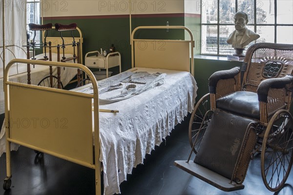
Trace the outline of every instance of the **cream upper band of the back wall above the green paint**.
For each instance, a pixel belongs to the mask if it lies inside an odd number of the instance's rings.
[[[184,13],[185,0],[42,0],[43,17]],[[192,1],[192,0],[191,0]]]

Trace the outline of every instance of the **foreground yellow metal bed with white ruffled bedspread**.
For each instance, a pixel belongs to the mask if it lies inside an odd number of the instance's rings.
[[[120,102],[99,105],[99,98],[106,95],[99,95],[94,75],[82,64],[34,61],[45,66],[80,68],[92,81],[92,84],[65,91],[8,81],[12,64],[32,63],[28,59],[10,61],[4,75],[7,162],[10,162],[10,143],[17,143],[94,169],[96,194],[102,193],[101,174],[104,193],[120,193],[119,185],[126,180],[126,175],[143,163],[146,154],[192,112],[195,103],[197,86],[193,60],[190,60],[194,42],[190,30],[184,26],[168,26],[184,29],[190,40],[134,39],[137,31],[166,28],[137,27],[132,32],[132,68],[129,70],[166,74],[164,82]],[[164,47],[158,49],[161,45],[157,44],[154,48],[154,41],[163,43]],[[24,98],[16,98],[24,93]],[[48,123],[37,122],[34,128],[12,125],[9,121],[16,118],[38,118]],[[62,124],[52,125],[56,118],[63,119],[59,121]],[[6,169],[5,190],[11,186],[10,163]]]

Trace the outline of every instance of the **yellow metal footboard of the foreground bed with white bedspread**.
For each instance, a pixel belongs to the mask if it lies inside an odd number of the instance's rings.
[[[94,94],[9,81],[9,68],[14,63],[80,68],[91,79]],[[13,59],[5,69],[3,81],[6,184],[11,179],[10,142],[14,142],[95,169],[96,194],[101,194],[99,93],[96,79],[91,71],[84,65],[76,63]]]

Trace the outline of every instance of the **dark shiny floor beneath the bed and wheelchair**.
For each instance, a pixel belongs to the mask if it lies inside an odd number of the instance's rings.
[[[175,160],[186,160],[190,151],[188,119],[177,125],[144,164],[133,169],[121,185],[122,195],[272,195],[263,184],[260,156],[249,166],[244,190],[223,192],[189,175],[173,165]],[[6,176],[5,155],[0,157],[0,195],[94,195],[94,170],[44,155],[35,159],[33,150],[20,147],[12,152],[12,187],[4,192]],[[276,195],[293,194],[293,171],[285,187]]]

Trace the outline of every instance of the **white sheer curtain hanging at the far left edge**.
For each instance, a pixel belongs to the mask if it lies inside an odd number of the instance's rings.
[[[5,65],[14,58],[26,59],[25,52],[21,49],[22,45],[26,44],[26,11],[28,10],[26,0],[1,0],[0,13],[0,46],[3,46],[3,17],[4,11],[4,44],[17,45],[15,47],[8,47],[5,50]],[[20,48],[21,47],[21,48]],[[25,48],[23,48],[26,50]],[[10,51],[11,50],[11,51]],[[0,56],[3,59],[3,48],[0,48]],[[13,55],[14,54],[14,55]],[[0,78],[3,78],[3,62],[0,59]],[[9,75],[20,74],[26,71],[24,65],[15,65],[10,69]]]

